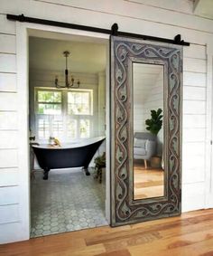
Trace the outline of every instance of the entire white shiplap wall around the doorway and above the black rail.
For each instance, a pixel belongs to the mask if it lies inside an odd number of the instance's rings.
[[[22,75],[16,69],[16,49],[20,52],[24,50],[20,42],[25,39],[20,39],[20,34],[16,34],[15,23],[6,20],[7,13],[106,29],[117,23],[121,31],[168,38],[181,33],[184,40],[191,43],[190,47],[184,47],[183,65],[182,210],[213,206],[205,204],[206,196],[213,189],[213,175],[210,175],[208,163],[211,155],[205,156],[206,148],[210,152],[207,145],[211,137],[206,93],[207,81],[208,86],[212,86],[213,21],[193,15],[192,1],[1,0],[0,10],[1,242],[29,238],[29,198],[26,194],[29,190],[28,181],[23,180],[27,165],[23,163],[20,146],[20,136],[25,136],[26,132],[26,123],[23,126],[21,123],[25,114],[24,104],[27,103],[24,98],[21,105],[17,103],[21,102],[19,95],[25,92],[16,86]],[[209,49],[208,66],[206,45]],[[208,88],[208,91],[211,90]],[[210,178],[205,180],[206,176]]]

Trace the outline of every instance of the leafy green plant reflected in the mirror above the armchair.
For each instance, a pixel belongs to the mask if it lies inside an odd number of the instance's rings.
[[[157,135],[162,128],[162,109],[151,110],[151,119],[145,120],[146,129]]]

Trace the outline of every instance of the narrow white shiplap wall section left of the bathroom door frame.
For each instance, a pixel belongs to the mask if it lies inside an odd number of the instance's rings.
[[[0,232],[11,233],[20,222],[16,46],[15,24],[8,24],[3,14],[0,32]]]

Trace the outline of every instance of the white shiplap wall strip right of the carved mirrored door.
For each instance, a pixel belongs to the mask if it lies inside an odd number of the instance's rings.
[[[205,208],[206,93],[205,45],[183,49],[182,205]]]

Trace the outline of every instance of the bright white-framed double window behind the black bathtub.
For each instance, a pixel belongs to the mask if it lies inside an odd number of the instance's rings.
[[[35,133],[38,139],[91,137],[92,90],[35,89]]]

